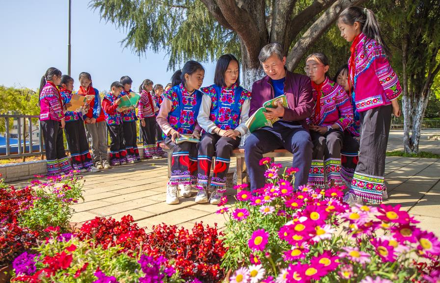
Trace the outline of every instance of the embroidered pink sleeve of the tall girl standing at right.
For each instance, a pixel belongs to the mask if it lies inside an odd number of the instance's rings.
[[[402,93],[402,88],[400,87],[399,78],[391,68],[385,54],[374,61],[374,69],[379,82],[385,90],[386,97],[389,100],[398,98]]]

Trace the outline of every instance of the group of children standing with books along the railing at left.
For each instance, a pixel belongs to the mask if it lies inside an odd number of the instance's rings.
[[[40,121],[46,146],[48,176],[55,176],[72,169],[80,172],[98,172],[111,166],[140,161],[137,146],[136,121],[141,121],[144,142],[144,158],[162,158],[159,147],[162,132],[155,119],[145,122],[145,115],[155,117],[160,103],[157,96],[163,92],[162,85],[156,86],[151,96],[150,85],[144,83],[138,114],[135,109],[118,111],[120,98],[131,92],[132,79],[121,77],[110,86],[110,92],[101,99],[99,91],[92,86],[89,73],[79,76],[80,88],[77,94],[86,96],[87,102],[80,112],[67,110],[71,106],[74,79],[62,75],[56,68],[49,68],[41,79],[39,103]],[[148,90],[147,90],[148,89]],[[147,100],[146,100],[147,99]],[[148,100],[149,99],[149,100]],[[145,103],[153,106],[152,113],[145,110]],[[143,104],[142,104],[143,103]],[[147,113],[148,112],[148,113]],[[151,116],[153,115],[153,116]],[[65,154],[63,130],[65,130],[71,160]],[[107,160],[107,130],[110,133],[110,160]],[[148,133],[148,134],[147,134]],[[157,138],[157,140],[156,140]],[[89,152],[89,144],[92,154]]]

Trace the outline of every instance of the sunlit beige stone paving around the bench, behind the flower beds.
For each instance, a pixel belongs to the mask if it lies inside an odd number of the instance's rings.
[[[392,135],[388,150],[396,144],[398,139]],[[276,159],[284,166],[290,166],[290,160]],[[385,168],[389,194],[385,204],[401,204],[415,215],[422,228],[440,236],[440,159],[387,157]],[[229,172],[234,170],[232,162]],[[120,219],[131,214],[138,225],[147,228],[162,222],[191,228],[200,221],[224,226],[223,215],[215,213],[217,206],[194,203],[195,191],[192,198],[181,198],[178,205],[165,204],[166,159],[87,173],[84,180],[84,202],[73,206],[76,212],[72,222],[82,223],[96,216]],[[234,193],[233,189],[227,190],[227,195]]]

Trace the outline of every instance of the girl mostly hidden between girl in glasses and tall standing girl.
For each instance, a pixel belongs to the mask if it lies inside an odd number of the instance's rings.
[[[351,94],[350,86],[348,85],[348,65],[342,66],[336,72],[334,81],[347,92],[352,103],[354,114],[353,123],[344,130],[344,142],[341,150],[341,177],[345,181],[345,184],[350,187],[359,160],[360,122],[359,113],[356,111],[355,98]]]

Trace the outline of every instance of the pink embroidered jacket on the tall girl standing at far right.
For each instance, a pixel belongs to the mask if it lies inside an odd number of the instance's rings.
[[[358,112],[389,105],[402,93],[399,79],[375,40],[363,33],[355,49],[354,91]],[[349,62],[350,65],[350,62]],[[351,70],[350,70],[351,71]]]

